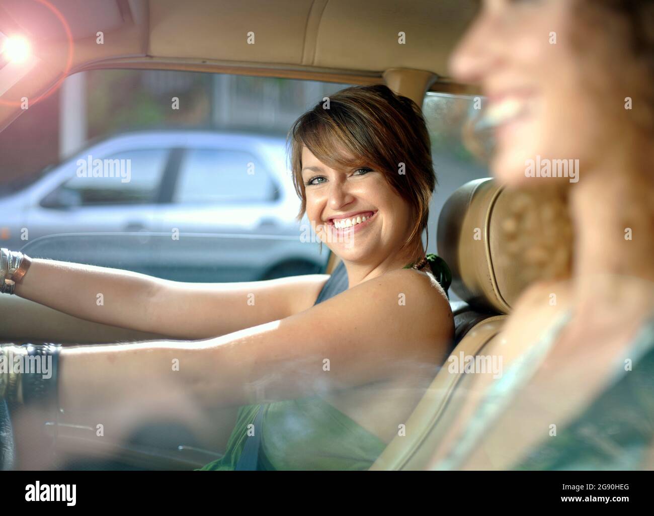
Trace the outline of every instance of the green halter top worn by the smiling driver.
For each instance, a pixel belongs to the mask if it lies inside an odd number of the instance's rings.
[[[447,294],[449,267],[436,254],[426,257]],[[368,470],[387,446],[334,405],[311,396],[240,407],[225,455],[201,470],[243,469],[241,456],[252,453],[251,447],[246,454],[244,450],[256,432],[261,432],[256,470]]]

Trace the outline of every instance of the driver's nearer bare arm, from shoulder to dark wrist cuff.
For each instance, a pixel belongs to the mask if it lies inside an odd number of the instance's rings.
[[[392,271],[284,320],[214,339],[63,349],[60,403],[68,415],[95,412],[119,424],[128,413],[207,413],[402,375],[433,377],[452,335],[438,285]]]

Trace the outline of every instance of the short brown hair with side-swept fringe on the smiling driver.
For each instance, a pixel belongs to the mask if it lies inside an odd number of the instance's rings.
[[[305,112],[288,133],[293,182],[307,208],[302,181],[302,148],[333,169],[368,165],[411,205],[415,224],[404,247],[421,237],[436,187],[432,152],[421,109],[387,86],[352,86],[325,97]]]

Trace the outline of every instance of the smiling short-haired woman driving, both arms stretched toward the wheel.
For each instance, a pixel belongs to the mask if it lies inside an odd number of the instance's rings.
[[[370,468],[453,338],[449,271],[422,246],[436,184],[428,133],[413,101],[379,85],[319,103],[290,141],[298,218],[306,213],[343,260],[347,290],[338,293],[325,275],[176,283],[3,250],[3,278],[19,296],[95,322],[202,340],[31,347],[56,356],[54,380],[14,376],[0,398],[103,421],[124,439],[143,421],[173,415],[210,434],[211,417],[237,406],[226,454],[206,469]],[[18,262],[29,273],[17,274],[10,264]]]

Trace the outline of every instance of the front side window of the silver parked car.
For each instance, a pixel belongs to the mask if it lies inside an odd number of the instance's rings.
[[[61,186],[83,206],[154,203],[165,169],[165,149],[129,150],[103,160],[77,160],[76,175]]]

